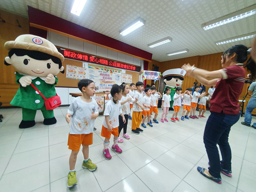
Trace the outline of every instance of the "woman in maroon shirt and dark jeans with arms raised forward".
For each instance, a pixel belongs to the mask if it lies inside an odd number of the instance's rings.
[[[221,65],[224,69],[207,71],[197,67],[184,64],[181,68],[187,74],[195,77],[200,83],[207,86],[216,86],[211,98],[210,116],[204,130],[204,144],[209,159],[209,170],[198,167],[205,177],[221,184],[221,172],[232,177],[231,173],[231,149],[228,143],[230,128],[240,117],[239,96],[242,92],[247,67],[255,79],[256,64],[249,59],[247,54],[250,51],[244,45],[235,45],[227,49],[221,56]],[[212,79],[212,80],[207,80]],[[220,161],[217,144],[221,150],[222,160]]]

